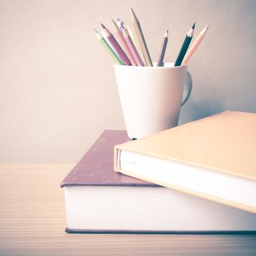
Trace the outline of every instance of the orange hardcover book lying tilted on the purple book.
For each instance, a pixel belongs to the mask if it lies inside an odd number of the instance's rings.
[[[114,168],[256,213],[255,131],[255,113],[225,111],[116,146]]]

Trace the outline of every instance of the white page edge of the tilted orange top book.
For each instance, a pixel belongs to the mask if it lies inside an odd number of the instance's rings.
[[[116,171],[256,213],[256,181],[116,148]]]

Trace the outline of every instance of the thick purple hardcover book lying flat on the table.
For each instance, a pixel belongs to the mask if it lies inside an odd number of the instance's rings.
[[[255,232],[256,214],[116,173],[113,148],[125,141],[103,132],[62,181],[67,233]]]

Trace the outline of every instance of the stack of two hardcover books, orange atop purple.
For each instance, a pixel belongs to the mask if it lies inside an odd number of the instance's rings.
[[[140,140],[106,130],[68,174],[67,233],[256,233],[256,114]]]

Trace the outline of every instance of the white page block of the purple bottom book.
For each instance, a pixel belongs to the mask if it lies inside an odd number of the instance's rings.
[[[64,187],[69,230],[255,231],[256,214],[165,187]]]

